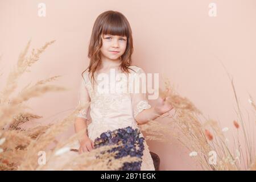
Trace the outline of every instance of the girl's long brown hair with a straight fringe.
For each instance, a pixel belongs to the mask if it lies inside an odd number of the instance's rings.
[[[101,65],[101,52],[102,46],[101,34],[110,34],[127,37],[126,50],[120,57],[122,72],[130,73],[129,66],[131,65],[131,55],[133,53],[133,37],[131,35],[131,27],[126,17],[118,11],[105,11],[101,13],[94,22],[92,35],[90,37],[88,57],[90,59],[88,69],[90,80],[95,80],[94,73]],[[133,69],[132,69],[133,70]],[[84,71],[84,72],[85,72]],[[82,74],[84,73],[82,72]],[[94,86],[93,86],[94,87]]]

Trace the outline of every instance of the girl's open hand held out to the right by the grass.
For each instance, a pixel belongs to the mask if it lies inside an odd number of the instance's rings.
[[[167,89],[167,96],[170,94],[170,92],[171,91]],[[163,115],[164,113],[167,113],[168,111],[174,108],[170,103],[166,101],[167,99],[168,97],[166,98],[159,97],[158,100],[156,101],[155,111],[159,115]]]

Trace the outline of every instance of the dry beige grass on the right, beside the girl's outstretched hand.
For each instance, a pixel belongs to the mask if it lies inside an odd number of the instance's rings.
[[[237,101],[233,80],[230,81]],[[147,140],[172,142],[171,139],[175,138],[191,152],[189,155],[195,158],[204,170],[241,170],[255,166],[255,136],[250,130],[246,130],[238,102],[237,117],[240,122],[233,123],[235,129],[242,128],[243,138],[240,139],[237,134],[237,140],[234,139],[235,148],[230,148],[224,136],[225,130],[222,131],[217,121],[207,119],[188,98],[179,96],[168,79],[164,80],[164,87],[166,91],[160,90],[160,96],[167,98],[166,101],[174,106],[175,114],[168,123],[150,121],[141,125],[141,130],[148,134]],[[168,93],[167,90],[172,92]],[[249,102],[255,109],[251,96]],[[255,125],[253,127],[255,128]],[[245,141],[243,149],[241,140]]]

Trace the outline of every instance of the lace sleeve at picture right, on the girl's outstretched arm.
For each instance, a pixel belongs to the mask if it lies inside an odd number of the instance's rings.
[[[134,86],[132,93],[133,115],[135,118],[144,109],[149,109],[151,105],[148,104],[147,100],[146,74],[144,73],[143,69],[138,68],[134,78],[134,83],[138,86],[137,91],[136,86]]]

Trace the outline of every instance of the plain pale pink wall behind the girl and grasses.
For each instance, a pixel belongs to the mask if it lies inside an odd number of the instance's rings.
[[[46,4],[46,17],[38,16],[40,2]],[[236,103],[220,60],[234,77],[243,110],[250,112],[248,93],[256,98],[256,1],[214,1],[217,16],[210,17],[212,2],[1,0],[0,72],[4,75],[0,86],[29,39],[31,48],[56,40],[31,73],[20,78],[19,88],[28,81],[62,75],[56,84],[69,91],[46,94],[28,105],[44,116],[40,123],[65,117],[77,105],[81,72],[89,64],[86,55],[94,20],[105,10],[117,10],[133,30],[133,64],[147,73],[166,75],[207,117],[232,127]],[[66,137],[72,132],[71,128]],[[199,169],[176,140],[169,146],[149,144],[160,155],[160,169]]]

